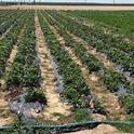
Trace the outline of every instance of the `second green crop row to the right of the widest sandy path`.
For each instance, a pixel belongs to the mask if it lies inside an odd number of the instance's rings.
[[[115,70],[106,69],[98,59],[96,59],[92,54],[88,53],[86,50],[80,44],[76,42],[70,35],[66,32],[66,28],[56,23],[54,19],[49,17],[45,13],[44,16],[48,18],[49,23],[55,26],[56,30],[59,32],[61,36],[64,37],[66,45],[69,45],[73,49],[75,53],[81,58],[82,63],[88,66],[89,72],[96,71],[99,73],[100,78],[104,81],[104,84],[111,91],[111,92],[119,92],[121,89],[125,89],[128,93],[134,92],[133,88],[131,86],[130,82],[126,81],[126,78]],[[128,106],[125,103],[123,105],[126,108],[128,112],[133,112],[134,109],[132,107],[133,95],[128,93],[121,95],[121,102],[128,100]]]

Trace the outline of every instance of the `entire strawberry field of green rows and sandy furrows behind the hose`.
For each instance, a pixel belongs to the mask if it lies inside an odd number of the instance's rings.
[[[132,13],[0,10],[0,125],[133,122]]]

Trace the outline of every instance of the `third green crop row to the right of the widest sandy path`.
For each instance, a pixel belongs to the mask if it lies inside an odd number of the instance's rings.
[[[96,48],[97,51],[103,52],[106,54],[106,56],[111,59],[113,63],[117,63],[117,65],[121,66],[121,69],[124,71],[130,71],[133,77],[134,73],[134,61],[133,57],[129,56],[128,53],[122,52],[116,48],[110,46],[110,44],[117,44],[115,40],[105,40],[107,37],[100,31],[95,31],[94,29],[89,28],[88,26],[84,26],[82,24],[77,23],[76,21],[72,21],[64,15],[61,15],[58,13],[49,11],[49,13],[62,25],[66,26],[66,29],[70,32],[77,35],[78,37],[81,37],[83,40],[85,40],[90,45]],[[99,32],[97,35],[96,32]],[[97,36],[96,36],[97,35]],[[105,40],[105,41],[104,41]],[[133,53],[133,51],[132,51]],[[132,54],[133,55],[133,54]]]

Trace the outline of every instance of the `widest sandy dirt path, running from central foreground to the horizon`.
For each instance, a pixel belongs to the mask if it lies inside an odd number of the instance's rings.
[[[56,121],[58,117],[55,117],[54,113],[61,113],[68,116],[70,113],[69,106],[65,105],[61,100],[61,96],[57,93],[57,85],[55,80],[55,75],[52,66],[52,58],[48,51],[48,48],[44,42],[43,32],[41,30],[38,17],[35,18],[36,27],[36,37],[37,37],[37,52],[38,57],[40,58],[40,69],[42,76],[42,90],[48,99],[48,107],[44,108],[43,118],[49,120]]]

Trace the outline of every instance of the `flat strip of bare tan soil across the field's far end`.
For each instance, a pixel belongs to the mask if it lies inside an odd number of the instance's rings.
[[[0,9],[35,9],[35,10],[112,10],[112,11],[119,11],[119,10],[134,10],[134,5],[132,6],[111,6],[111,5],[9,5],[9,6],[0,6]]]

